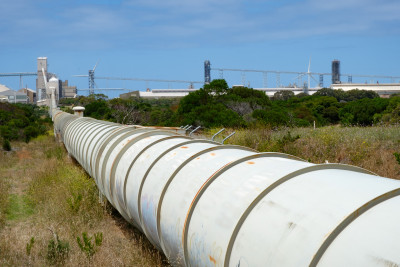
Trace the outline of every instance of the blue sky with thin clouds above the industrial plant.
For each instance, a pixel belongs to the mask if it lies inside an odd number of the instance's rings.
[[[47,56],[49,71],[80,89],[88,81],[73,75],[87,74],[99,59],[96,75],[114,77],[202,81],[207,59],[214,68],[307,71],[309,58],[314,72],[330,72],[339,59],[342,73],[400,76],[398,0],[13,0],[0,2],[0,14],[1,73],[36,71],[36,58]],[[230,85],[242,81],[241,73],[224,77]],[[263,85],[261,74],[245,80]],[[19,79],[0,83],[16,89]],[[25,84],[35,88],[33,78]]]

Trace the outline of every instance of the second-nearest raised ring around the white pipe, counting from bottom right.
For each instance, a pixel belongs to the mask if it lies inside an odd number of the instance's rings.
[[[253,208],[266,196],[268,195],[271,191],[273,191],[275,188],[277,188],[279,185],[299,176],[302,174],[314,172],[314,171],[320,171],[320,170],[328,170],[328,169],[335,169],[335,170],[346,170],[346,171],[354,171],[354,172],[359,172],[359,173],[364,173],[364,174],[372,174],[372,172],[365,170],[363,168],[351,166],[351,165],[345,165],[345,164],[318,164],[310,167],[305,167],[302,169],[299,169],[297,171],[294,171],[292,173],[289,173],[282,178],[278,179],[274,183],[272,183],[270,186],[268,186],[264,191],[262,191],[255,199],[254,201],[249,205],[249,207],[245,210],[245,212],[242,214],[240,217],[235,229],[232,232],[231,238],[229,240],[226,254],[225,254],[225,262],[224,266],[228,267],[229,266],[229,261],[231,258],[231,253],[232,253],[232,248],[235,243],[236,237],[239,233],[240,228],[242,227],[243,223],[245,222],[246,218],[249,216]]]

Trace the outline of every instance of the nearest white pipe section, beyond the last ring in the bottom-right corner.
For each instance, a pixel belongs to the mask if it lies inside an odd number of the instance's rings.
[[[368,210],[333,241],[318,266],[399,266],[400,197]]]

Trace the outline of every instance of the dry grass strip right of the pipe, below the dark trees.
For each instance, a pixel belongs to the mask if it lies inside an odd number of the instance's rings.
[[[208,133],[211,136],[214,129]],[[221,140],[233,129],[228,129]],[[283,128],[263,127],[235,130],[225,143],[265,152],[283,152],[313,163],[343,163],[368,169],[380,176],[400,179],[400,165],[394,152],[400,152],[400,127]],[[290,137],[288,132],[290,132]],[[296,139],[296,136],[299,136]]]

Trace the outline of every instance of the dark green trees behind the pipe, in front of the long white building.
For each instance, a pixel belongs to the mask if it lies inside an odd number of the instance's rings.
[[[330,124],[369,126],[400,121],[400,96],[380,98],[373,91],[322,88],[313,95],[282,90],[264,92],[232,87],[223,79],[179,99],[108,100],[105,95],[60,101],[85,106],[85,116],[123,124],[210,127],[307,127]],[[64,110],[72,112],[67,107]]]

